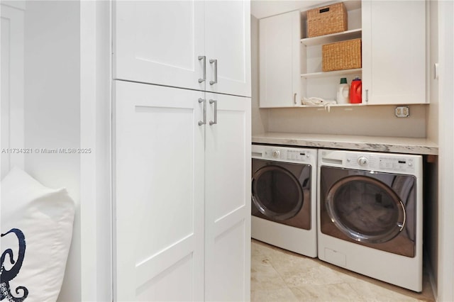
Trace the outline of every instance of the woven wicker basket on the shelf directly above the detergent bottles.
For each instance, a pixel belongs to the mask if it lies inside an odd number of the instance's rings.
[[[361,39],[322,45],[321,57],[323,72],[361,68]]]

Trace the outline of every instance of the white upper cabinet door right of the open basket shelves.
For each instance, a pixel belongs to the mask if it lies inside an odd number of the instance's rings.
[[[362,100],[426,103],[426,1],[362,1]]]

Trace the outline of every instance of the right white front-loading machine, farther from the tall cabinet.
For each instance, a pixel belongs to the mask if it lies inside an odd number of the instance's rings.
[[[319,259],[422,291],[422,157],[319,150]]]

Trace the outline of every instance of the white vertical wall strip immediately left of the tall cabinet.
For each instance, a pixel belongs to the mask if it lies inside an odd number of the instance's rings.
[[[82,1],[80,79],[82,301],[111,301],[111,2]]]

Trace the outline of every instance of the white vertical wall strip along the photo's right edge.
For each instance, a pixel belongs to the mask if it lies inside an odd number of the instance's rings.
[[[454,301],[454,2],[438,1],[438,276],[437,300]]]

